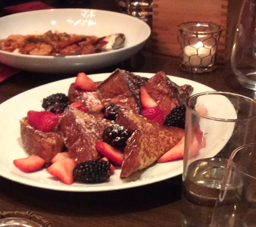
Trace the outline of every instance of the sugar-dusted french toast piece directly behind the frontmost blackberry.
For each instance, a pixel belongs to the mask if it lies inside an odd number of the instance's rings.
[[[103,130],[110,123],[98,113],[86,113],[68,106],[60,119],[59,129],[70,157],[78,163],[99,159],[95,144],[102,141]]]

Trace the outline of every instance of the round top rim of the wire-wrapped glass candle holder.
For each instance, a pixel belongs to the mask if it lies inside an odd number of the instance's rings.
[[[202,24],[202,25],[207,25],[207,26],[215,26],[215,30],[213,31],[190,31],[188,29],[188,27],[185,27],[185,25],[194,25],[196,26],[196,24]],[[183,22],[181,24],[178,25],[179,31],[181,32],[186,32],[186,33],[190,33],[190,34],[214,34],[214,33],[220,33],[223,31],[222,26],[218,25],[216,23],[213,22],[202,22],[202,21],[191,21],[191,22]]]

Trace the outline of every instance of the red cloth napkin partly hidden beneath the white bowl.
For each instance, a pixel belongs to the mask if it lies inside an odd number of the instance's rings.
[[[40,1],[29,2],[29,3],[19,4],[19,5],[12,5],[4,8],[6,13],[8,14],[27,12],[27,11],[33,11],[33,10],[46,10],[46,9],[54,9],[54,8]],[[15,73],[18,73],[19,71],[20,70],[16,68],[0,65],[0,82],[12,76]]]

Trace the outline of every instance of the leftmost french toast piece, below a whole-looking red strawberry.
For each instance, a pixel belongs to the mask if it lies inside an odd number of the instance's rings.
[[[25,151],[36,154],[50,164],[52,158],[63,151],[64,141],[57,132],[42,132],[29,124],[26,117],[20,120],[20,136]]]

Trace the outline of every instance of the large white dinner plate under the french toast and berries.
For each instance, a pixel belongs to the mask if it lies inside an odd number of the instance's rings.
[[[150,73],[136,73],[140,76],[151,77],[154,74]],[[94,81],[105,80],[110,73],[89,75]],[[204,91],[213,91],[212,88],[207,87],[195,81],[182,79],[175,76],[170,76],[170,79],[178,85],[190,84],[193,87],[193,93],[200,93]],[[6,179],[23,183],[33,187],[60,190],[60,191],[108,191],[118,190],[124,188],[133,188],[150,183],[162,181],[173,178],[182,174],[183,161],[172,161],[167,163],[155,164],[144,171],[135,174],[133,179],[122,180],[120,178],[121,169],[116,168],[113,176],[110,176],[109,182],[100,184],[82,184],[73,183],[72,185],[65,185],[59,180],[54,180],[52,176],[43,169],[34,173],[23,173],[13,165],[13,160],[24,158],[27,156],[23,149],[21,138],[19,120],[26,116],[29,110],[43,110],[41,108],[42,100],[54,93],[67,94],[70,84],[75,81],[75,77],[65,80],[56,81],[45,84],[43,86],[25,91],[10,100],[0,105],[0,175]],[[219,152],[212,150],[211,157]]]

